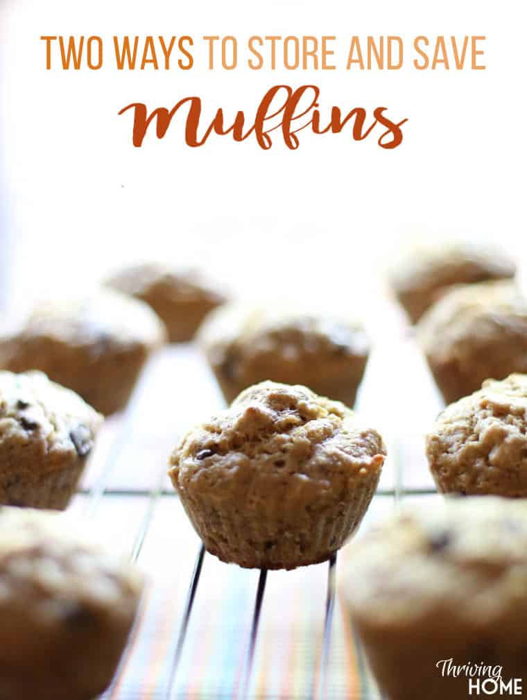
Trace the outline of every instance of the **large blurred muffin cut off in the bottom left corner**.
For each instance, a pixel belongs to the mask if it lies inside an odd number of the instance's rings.
[[[115,672],[141,575],[64,516],[0,508],[0,697],[90,700]]]

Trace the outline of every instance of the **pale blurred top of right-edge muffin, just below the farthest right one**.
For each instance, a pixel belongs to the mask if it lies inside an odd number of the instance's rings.
[[[527,301],[508,280],[454,287],[421,318],[418,334],[426,353],[461,358],[465,346],[527,337]]]

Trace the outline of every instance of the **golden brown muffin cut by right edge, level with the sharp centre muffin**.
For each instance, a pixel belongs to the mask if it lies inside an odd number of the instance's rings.
[[[489,379],[438,416],[426,437],[443,493],[527,496],[527,377]]]

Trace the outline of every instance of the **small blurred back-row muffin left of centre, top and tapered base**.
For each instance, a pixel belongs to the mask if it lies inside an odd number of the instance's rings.
[[[150,304],[167,326],[172,343],[192,339],[206,314],[225,302],[223,293],[197,272],[155,263],[128,267],[106,284]]]

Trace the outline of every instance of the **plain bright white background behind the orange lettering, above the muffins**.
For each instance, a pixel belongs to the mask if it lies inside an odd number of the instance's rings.
[[[526,231],[523,3],[418,0],[263,4],[213,0],[0,0],[0,143],[8,202],[9,307],[73,293],[138,258],[199,264],[244,295],[330,294],[364,305],[408,235],[488,238],[521,251]],[[45,70],[43,34],[99,34],[100,71]],[[113,34],[486,35],[486,71],[119,72]],[[195,52],[202,57],[203,51]],[[300,134],[211,137],[181,131],[131,144],[130,102],[172,106],[196,94],[211,116],[255,110],[276,83],[315,83],[321,108],[376,106],[409,118],[404,141]],[[181,118],[180,118],[181,120]],[[5,203],[5,202],[3,202]]]

